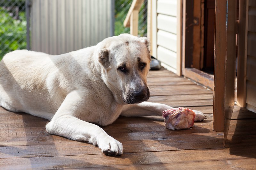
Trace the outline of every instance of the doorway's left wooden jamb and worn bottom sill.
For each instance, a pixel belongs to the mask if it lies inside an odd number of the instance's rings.
[[[213,76],[193,68],[194,1],[182,3],[182,75],[213,90]]]

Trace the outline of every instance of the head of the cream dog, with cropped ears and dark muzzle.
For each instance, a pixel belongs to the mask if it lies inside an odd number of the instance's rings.
[[[127,104],[148,100],[147,74],[151,60],[148,39],[121,34],[104,41],[98,61],[102,78],[116,100]]]

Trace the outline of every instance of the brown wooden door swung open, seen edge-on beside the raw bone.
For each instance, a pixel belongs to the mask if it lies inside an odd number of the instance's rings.
[[[213,131],[224,132],[224,142],[235,101],[236,0],[215,2]]]

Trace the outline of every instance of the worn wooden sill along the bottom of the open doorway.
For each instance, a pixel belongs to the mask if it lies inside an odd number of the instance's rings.
[[[213,90],[213,75],[197,70],[196,68],[185,68],[183,74],[185,77]]]

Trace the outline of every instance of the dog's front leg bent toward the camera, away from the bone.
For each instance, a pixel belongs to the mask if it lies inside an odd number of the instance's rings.
[[[123,154],[123,145],[120,142],[110,137],[99,126],[75,117],[76,109],[78,109],[76,104],[79,101],[81,101],[79,92],[69,93],[51,122],[46,125],[46,131],[72,140],[87,141],[98,145],[101,151],[107,155]]]

